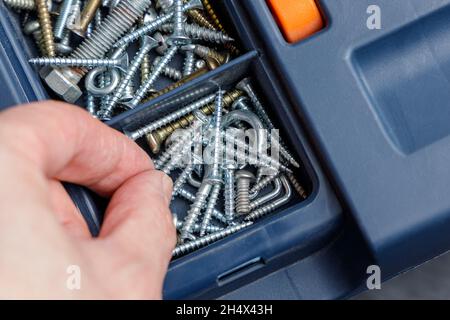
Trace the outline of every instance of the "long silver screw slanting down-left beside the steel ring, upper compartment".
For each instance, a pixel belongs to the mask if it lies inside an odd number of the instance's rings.
[[[114,94],[112,95],[111,99],[109,100],[109,103],[106,105],[104,109],[102,109],[101,116],[105,119],[108,119],[111,117],[112,112],[114,110],[114,107],[119,102],[120,98],[122,98],[123,93],[125,92],[128,84],[131,82],[131,80],[136,75],[137,71],[139,70],[139,67],[142,63],[142,60],[147,55],[147,53],[150,52],[153,48],[155,48],[158,45],[158,42],[147,36],[144,40],[144,45],[141,47],[138,53],[136,53],[136,56],[133,58],[133,62],[131,63],[128,70],[123,75],[122,80],[120,81],[119,86],[114,91]]]

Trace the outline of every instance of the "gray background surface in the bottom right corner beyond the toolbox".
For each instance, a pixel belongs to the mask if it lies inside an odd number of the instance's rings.
[[[365,292],[356,300],[450,299],[450,253]]]

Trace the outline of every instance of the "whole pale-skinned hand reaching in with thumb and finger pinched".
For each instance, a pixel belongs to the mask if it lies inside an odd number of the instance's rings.
[[[18,106],[0,113],[0,178],[0,298],[161,298],[172,181],[133,141],[74,106]],[[98,238],[61,181],[111,198]]]

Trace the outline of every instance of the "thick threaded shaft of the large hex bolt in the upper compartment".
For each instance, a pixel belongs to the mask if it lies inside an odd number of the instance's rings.
[[[91,37],[84,40],[72,53],[73,58],[101,58],[112,47],[137,19],[144,14],[150,5],[147,0],[122,0],[103,20],[102,24],[92,32]],[[85,73],[81,70],[81,73]]]

